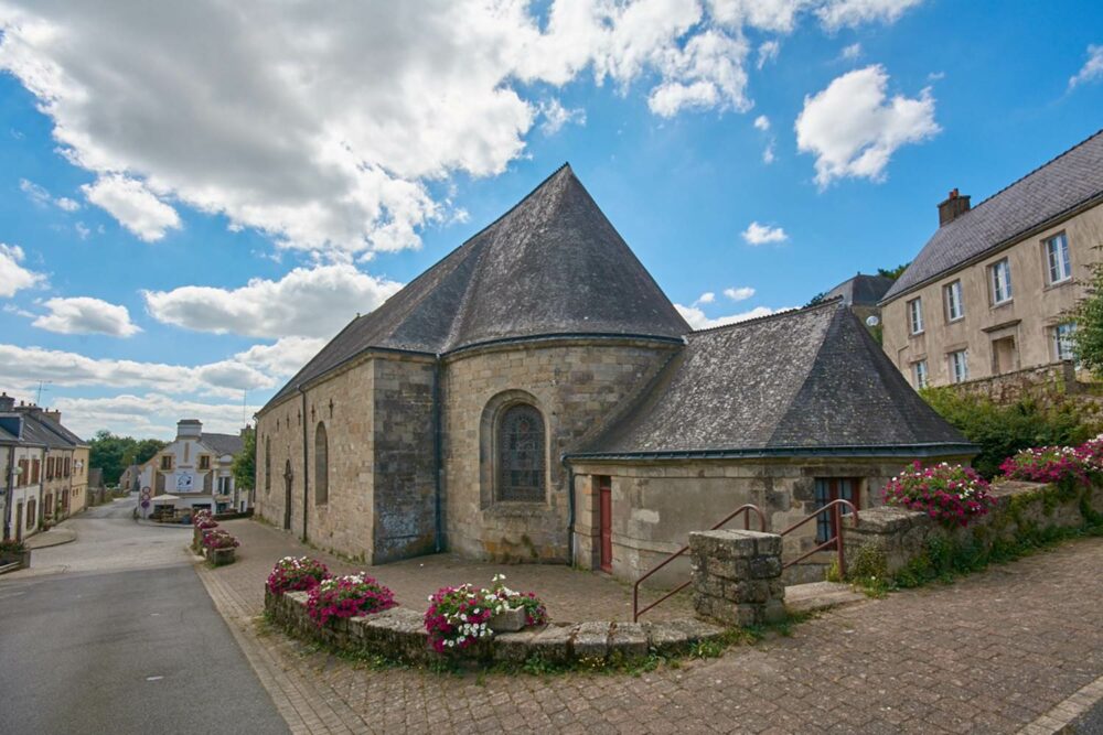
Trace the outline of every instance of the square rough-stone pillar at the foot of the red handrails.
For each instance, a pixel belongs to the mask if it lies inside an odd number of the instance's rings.
[[[761,625],[785,616],[781,537],[758,531],[689,534],[697,615],[725,625]]]

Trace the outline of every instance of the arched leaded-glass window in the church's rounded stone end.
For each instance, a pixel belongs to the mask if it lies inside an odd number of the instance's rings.
[[[497,424],[497,499],[544,501],[544,417],[532,406],[507,408]]]

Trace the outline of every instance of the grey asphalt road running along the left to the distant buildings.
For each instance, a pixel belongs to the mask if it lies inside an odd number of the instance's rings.
[[[0,733],[287,733],[186,552],[132,501],[0,577]]]

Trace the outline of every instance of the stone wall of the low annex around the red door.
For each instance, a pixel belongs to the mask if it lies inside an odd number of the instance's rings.
[[[612,544],[614,575],[635,580],[688,543],[689,533],[711,528],[743,504],[767,515],[767,530],[779,532],[806,518],[815,508],[817,477],[859,479],[859,507],[880,502],[880,490],[907,464],[904,460],[808,458],[580,462],[576,465],[577,564],[598,568],[600,475],[612,479]],[[741,519],[728,528],[742,528]],[[751,528],[758,530],[757,520]],[[800,556],[813,549],[815,523],[808,522],[784,539],[784,555]],[[808,564],[786,570],[790,584],[822,581],[829,554],[816,554]],[[668,587],[688,579],[689,561],[678,559],[649,582]]]

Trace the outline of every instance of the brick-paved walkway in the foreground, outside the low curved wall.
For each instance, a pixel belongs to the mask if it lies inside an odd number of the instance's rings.
[[[719,659],[481,678],[358,669],[259,631],[269,552],[301,550],[250,525],[234,528],[242,561],[201,575],[296,733],[1010,733],[1060,724],[1103,673],[1101,539],[835,610]],[[383,569],[389,584],[398,566]]]

